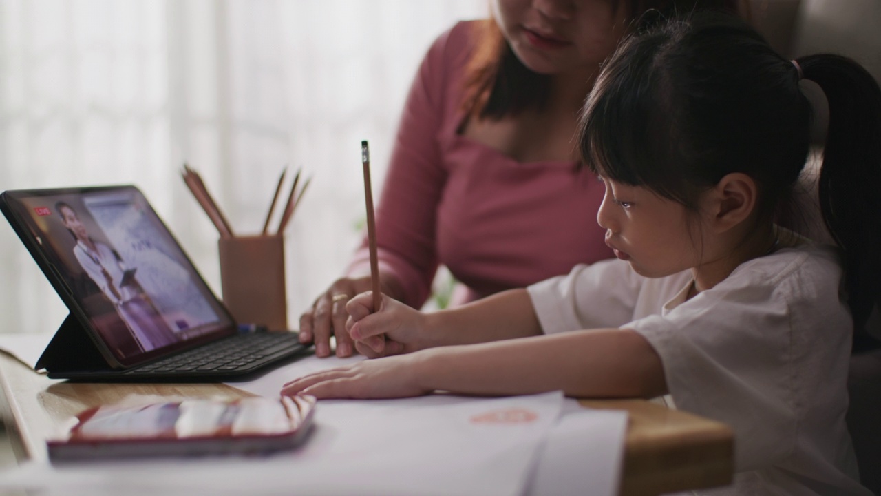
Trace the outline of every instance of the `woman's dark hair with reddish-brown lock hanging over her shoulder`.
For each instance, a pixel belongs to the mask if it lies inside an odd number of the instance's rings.
[[[608,0],[615,9],[627,9],[630,21],[641,12],[665,14],[694,9],[737,12],[742,0]],[[745,3],[744,3],[745,4]],[[744,11],[744,8],[740,9]],[[485,19],[474,23],[474,51],[465,72],[463,109],[466,116],[500,119],[547,101],[551,76],[529,70],[515,56],[498,23]]]

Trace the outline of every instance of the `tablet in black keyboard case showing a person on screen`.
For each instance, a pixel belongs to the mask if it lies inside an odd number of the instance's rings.
[[[310,350],[237,323],[135,186],[6,191],[0,210],[70,310],[50,378],[247,380]]]

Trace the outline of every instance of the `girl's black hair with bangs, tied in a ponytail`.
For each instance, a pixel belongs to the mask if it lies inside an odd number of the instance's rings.
[[[859,347],[881,299],[881,89],[859,64],[786,60],[731,16],[672,19],[611,56],[581,116],[581,157],[604,177],[692,209],[700,192],[744,173],[758,184],[759,218],[770,221],[789,203],[811,147],[801,79],[829,103],[819,204],[843,252]]]

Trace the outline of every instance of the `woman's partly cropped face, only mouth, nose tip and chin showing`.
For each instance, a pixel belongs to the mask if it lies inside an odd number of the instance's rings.
[[[612,0],[493,0],[492,11],[517,58],[541,74],[595,71],[626,33],[626,8]]]

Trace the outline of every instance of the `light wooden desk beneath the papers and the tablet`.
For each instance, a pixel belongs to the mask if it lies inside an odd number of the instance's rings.
[[[45,460],[45,440],[78,411],[130,395],[241,397],[224,384],[85,384],[50,380],[0,352],[0,415],[16,458]],[[718,422],[642,400],[582,401],[591,408],[627,410],[621,494],[641,496],[726,485],[731,481],[730,429]]]

